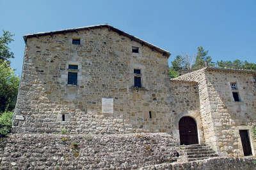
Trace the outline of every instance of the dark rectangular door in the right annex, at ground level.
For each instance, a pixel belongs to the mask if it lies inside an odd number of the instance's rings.
[[[244,156],[252,155],[252,147],[248,135],[248,130],[239,130]]]

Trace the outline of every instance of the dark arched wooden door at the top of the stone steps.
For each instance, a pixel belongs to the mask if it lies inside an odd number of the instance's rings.
[[[180,145],[198,144],[196,122],[191,117],[182,117],[179,121]]]

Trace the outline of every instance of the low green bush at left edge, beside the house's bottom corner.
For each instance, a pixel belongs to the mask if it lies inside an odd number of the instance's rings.
[[[6,136],[12,129],[13,112],[5,111],[0,115],[0,137]]]

